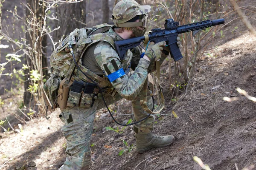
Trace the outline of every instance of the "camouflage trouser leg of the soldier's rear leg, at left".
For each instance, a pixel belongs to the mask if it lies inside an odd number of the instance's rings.
[[[90,167],[90,138],[93,131],[97,102],[92,108],[69,108],[59,117],[64,122],[61,131],[67,139],[67,158],[60,170],[88,170]]]

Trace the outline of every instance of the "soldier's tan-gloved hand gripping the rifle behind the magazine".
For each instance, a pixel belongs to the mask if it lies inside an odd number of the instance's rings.
[[[161,53],[163,51],[163,47],[165,46],[166,46],[165,41],[158,42],[147,49],[147,51],[145,52],[145,56],[148,57],[150,62],[154,62],[157,59],[161,58]]]

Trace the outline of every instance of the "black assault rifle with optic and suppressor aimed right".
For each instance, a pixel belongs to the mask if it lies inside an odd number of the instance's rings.
[[[177,45],[177,35],[193,31],[193,36],[198,32],[205,28],[211,27],[211,26],[217,26],[220,24],[224,24],[224,19],[218,19],[218,20],[206,20],[201,21],[198,23],[191,23],[183,26],[178,26],[179,22],[175,22],[173,19],[167,19],[164,28],[154,28],[151,30],[151,32],[148,35],[142,36],[142,37],[135,37],[130,38],[127,40],[119,40],[115,41],[115,48],[116,52],[119,55],[120,59],[124,59],[125,53],[128,49],[134,48],[142,41],[145,40],[145,42],[151,41],[154,43],[166,41],[166,44],[169,46],[171,57],[174,59],[174,61],[178,61],[179,59],[182,59],[182,55],[180,52],[180,48]]]

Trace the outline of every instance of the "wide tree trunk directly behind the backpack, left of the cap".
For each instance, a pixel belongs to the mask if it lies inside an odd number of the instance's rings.
[[[86,27],[86,0],[79,3],[64,3],[60,4],[56,9],[58,20],[55,23],[55,28],[60,26],[58,31],[55,31],[54,40],[61,40],[74,31],[76,28]]]

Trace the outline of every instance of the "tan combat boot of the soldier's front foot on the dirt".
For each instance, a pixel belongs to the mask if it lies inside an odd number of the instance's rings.
[[[166,147],[176,140],[175,136],[157,136],[150,133],[135,133],[136,138],[136,149],[138,153],[144,153],[146,150],[150,150],[153,147]]]

